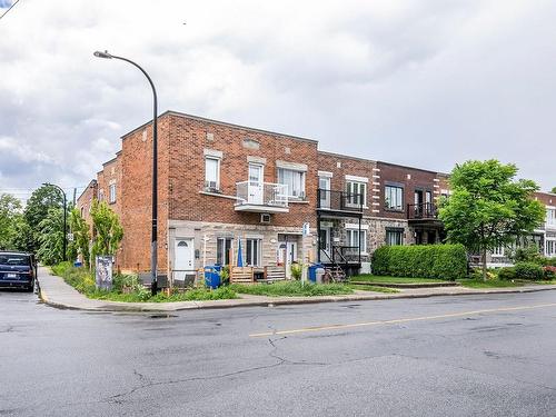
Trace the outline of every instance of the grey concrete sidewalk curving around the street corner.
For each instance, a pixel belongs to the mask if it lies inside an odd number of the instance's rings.
[[[396,294],[381,294],[356,290],[347,296],[321,296],[321,297],[266,297],[240,295],[241,298],[231,300],[210,301],[178,301],[178,302],[118,302],[89,299],[69,286],[60,277],[49,274],[47,268],[40,268],[39,274],[40,298],[47,305],[77,310],[89,311],[178,311],[199,308],[231,308],[231,307],[254,307],[254,306],[284,306],[312,302],[339,302],[339,301],[363,301],[363,300],[385,300],[398,298],[425,298],[439,296],[466,296],[483,294],[509,294],[509,292],[535,292],[556,290],[554,285],[535,285],[513,288],[473,289],[464,287],[441,287],[441,288],[415,288],[403,289]]]

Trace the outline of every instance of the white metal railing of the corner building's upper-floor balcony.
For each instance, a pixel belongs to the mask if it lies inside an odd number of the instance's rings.
[[[288,186],[272,182],[241,181],[236,183],[236,206],[288,207]]]

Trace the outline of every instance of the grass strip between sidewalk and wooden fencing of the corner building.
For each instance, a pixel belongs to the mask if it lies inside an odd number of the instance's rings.
[[[244,286],[234,284],[235,292],[268,297],[316,297],[353,294],[354,289],[346,284],[305,284],[299,281],[282,281],[275,284],[256,284]]]

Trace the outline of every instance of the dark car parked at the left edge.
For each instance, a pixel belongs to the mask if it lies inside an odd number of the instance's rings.
[[[0,251],[0,288],[34,289],[37,261],[32,254]]]

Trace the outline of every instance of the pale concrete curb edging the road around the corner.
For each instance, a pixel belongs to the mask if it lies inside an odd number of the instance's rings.
[[[119,301],[102,301],[100,306],[76,306],[58,301],[52,301],[46,291],[41,288],[39,298],[46,304],[59,309],[69,310],[85,310],[85,311],[113,311],[113,312],[171,312],[182,310],[197,310],[197,309],[222,309],[222,308],[237,308],[237,307],[276,307],[276,306],[292,306],[304,304],[319,304],[319,302],[349,302],[349,301],[370,301],[370,300],[390,300],[390,299],[408,299],[408,298],[430,298],[430,297],[456,297],[456,296],[477,296],[477,295],[496,295],[496,294],[523,294],[523,292],[538,292],[556,290],[554,288],[522,288],[522,289],[500,289],[500,290],[469,290],[467,292],[430,292],[430,294],[385,294],[385,295],[350,295],[350,296],[322,296],[312,298],[297,298],[297,297],[281,297],[271,299],[270,297],[265,300],[214,300],[214,301],[177,301],[177,302],[161,302],[148,304],[145,306],[130,305],[128,302]],[[83,296],[85,297],[85,296]],[[89,299],[88,299],[89,300]],[[187,306],[177,304],[190,302]]]

